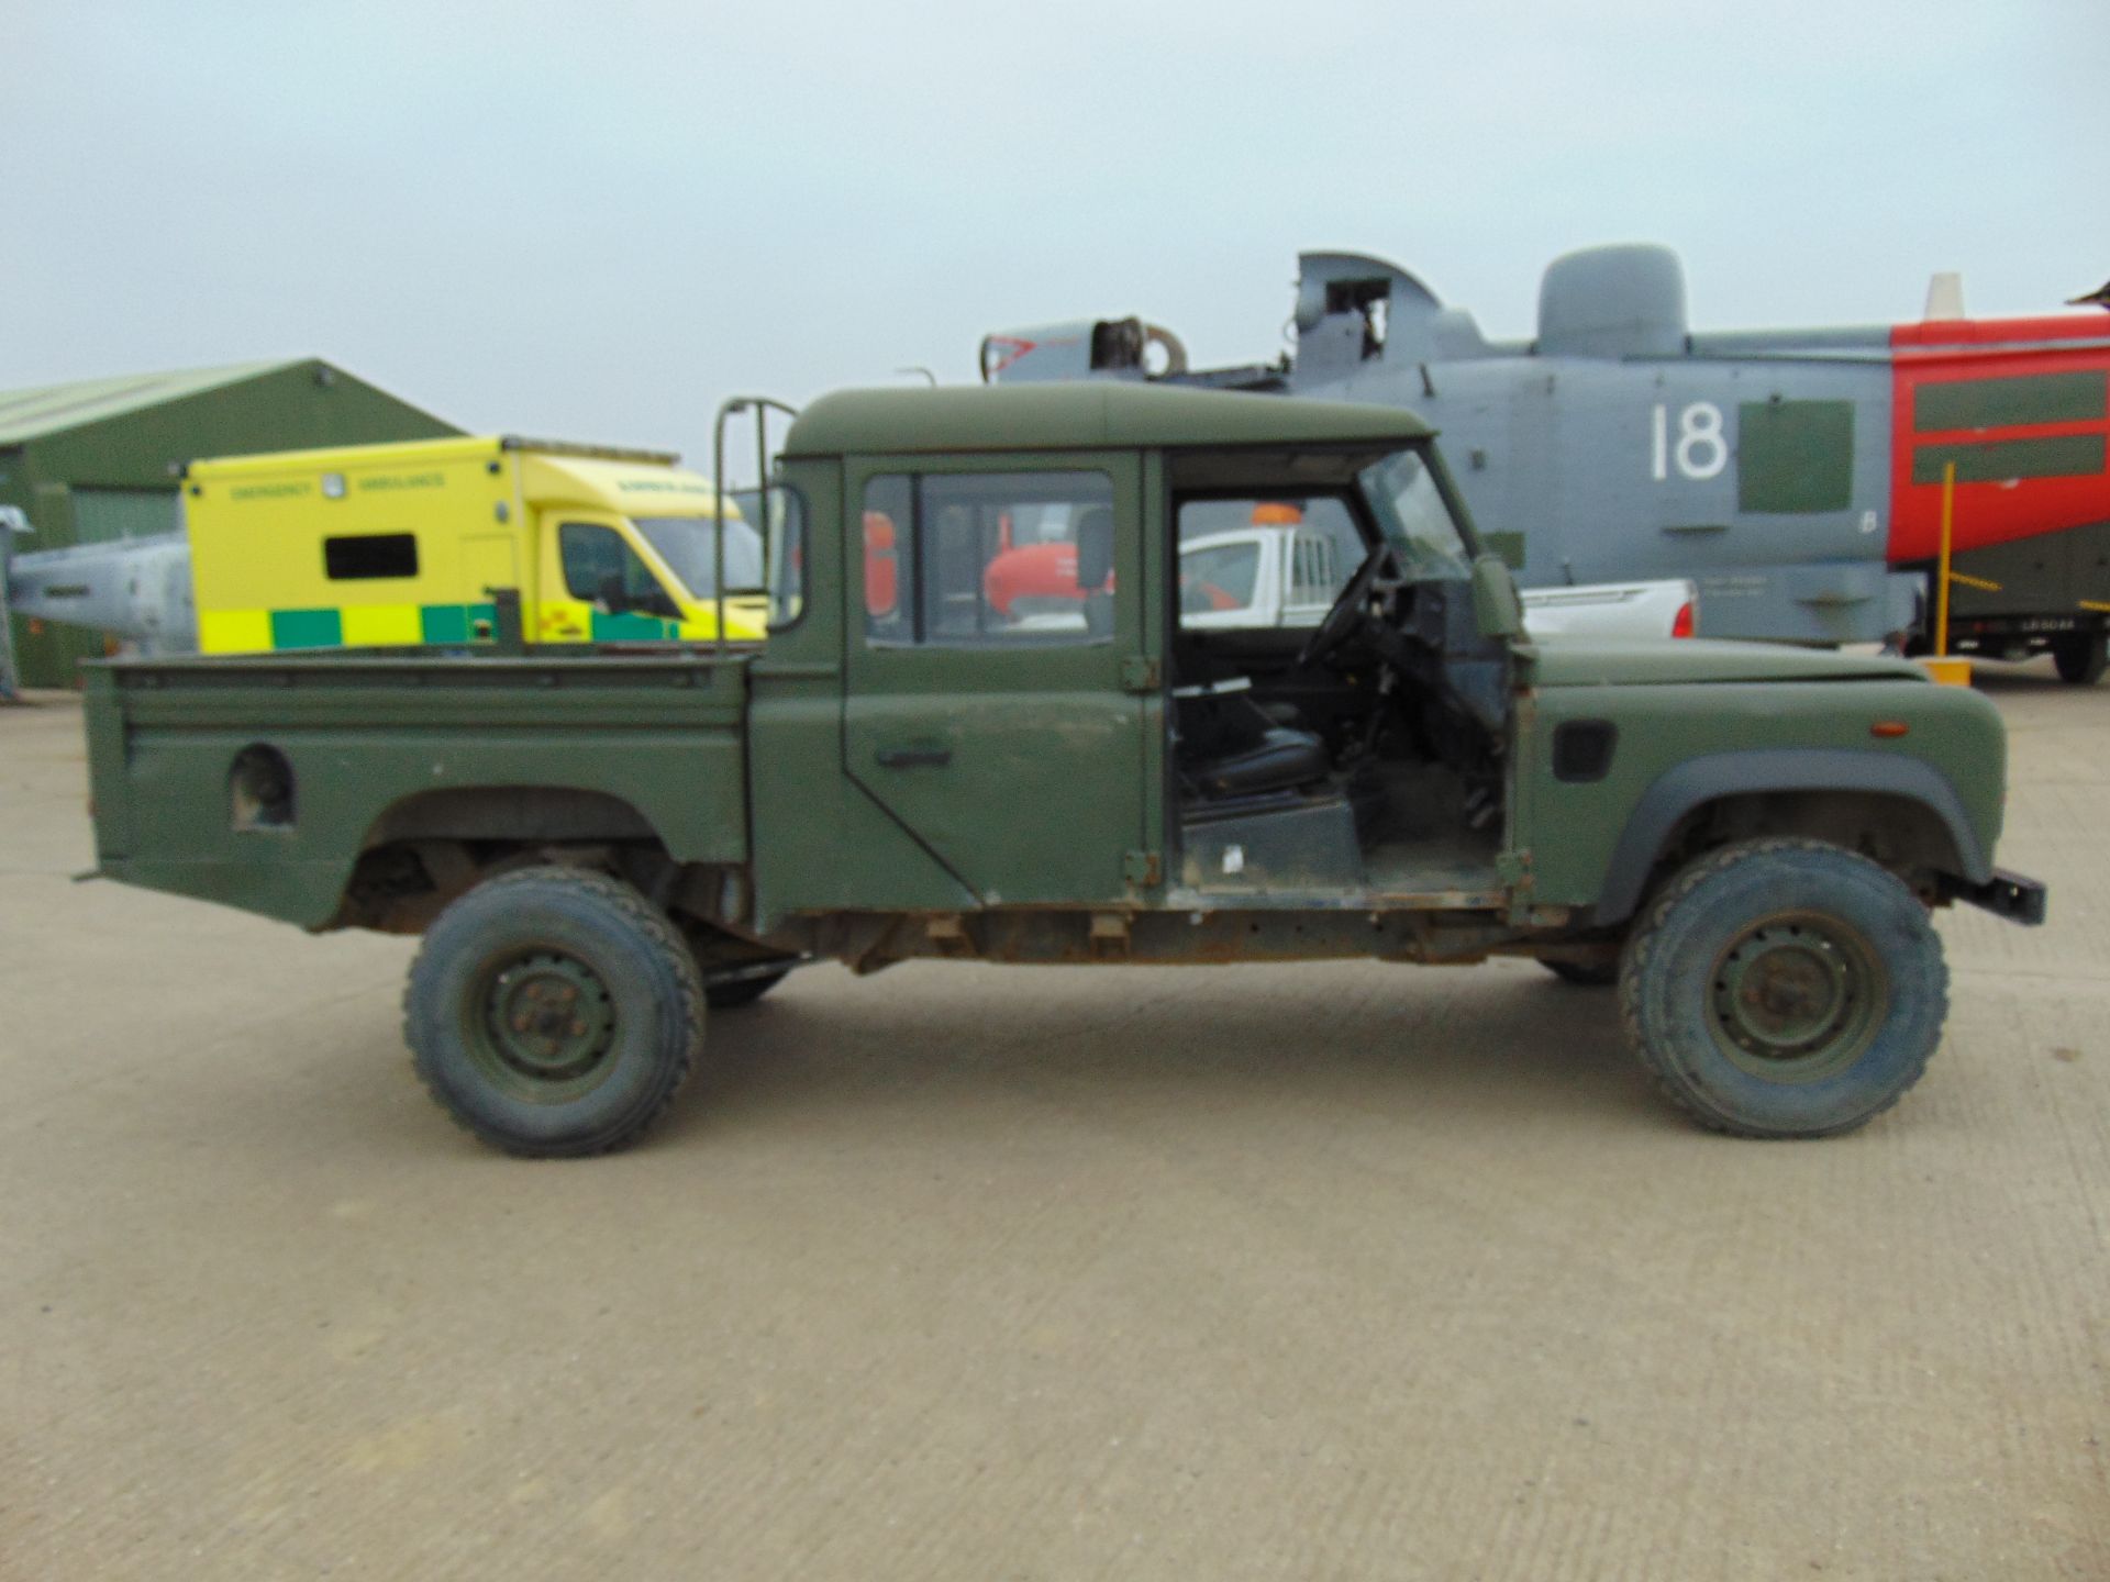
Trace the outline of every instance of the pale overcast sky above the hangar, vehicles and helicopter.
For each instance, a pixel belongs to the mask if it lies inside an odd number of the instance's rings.
[[[1272,356],[1312,247],[1492,335],[1606,240],[1699,329],[2110,274],[2106,0],[0,0],[0,388],[319,354],[703,462],[1000,327]]]

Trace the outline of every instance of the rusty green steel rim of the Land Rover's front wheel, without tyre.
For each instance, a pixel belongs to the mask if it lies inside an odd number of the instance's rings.
[[[1891,975],[1859,930],[1789,911],[1741,930],[1715,958],[1707,1021],[1739,1069],[1819,1082],[1867,1053],[1888,1008]]]

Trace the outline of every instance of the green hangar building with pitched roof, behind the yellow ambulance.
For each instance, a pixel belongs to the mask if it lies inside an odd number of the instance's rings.
[[[17,548],[63,548],[175,532],[175,470],[203,456],[458,435],[321,359],[0,392],[0,506],[34,529]],[[15,620],[23,686],[74,686],[103,652],[91,631]]]

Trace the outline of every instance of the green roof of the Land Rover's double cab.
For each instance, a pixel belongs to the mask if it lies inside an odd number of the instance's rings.
[[[1367,445],[1426,439],[1399,407],[1289,401],[1152,384],[840,390],[785,435],[785,456],[1142,449],[1160,445]]]

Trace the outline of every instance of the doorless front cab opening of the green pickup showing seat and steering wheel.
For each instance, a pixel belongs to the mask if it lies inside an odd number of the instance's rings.
[[[1504,907],[1521,610],[1433,445],[1186,454],[1171,489],[1175,903]],[[1315,624],[1213,618],[1266,576],[1239,521],[1327,567]]]

